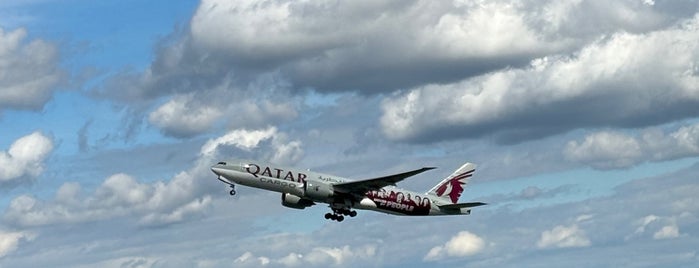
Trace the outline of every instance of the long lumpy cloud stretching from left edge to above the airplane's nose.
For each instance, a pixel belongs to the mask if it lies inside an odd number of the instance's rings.
[[[265,141],[270,144],[264,144]],[[209,192],[215,189],[209,167],[226,150],[255,149],[265,160],[291,163],[303,154],[299,141],[286,142],[286,134],[270,127],[265,130],[236,130],[209,140],[201,148],[194,165],[169,181],[140,183],[127,174],[115,174],[89,195],[78,183],[65,183],[53,200],[42,201],[30,195],[14,198],[3,217],[17,226],[100,221],[115,217],[136,217],[138,224],[162,226],[195,218],[212,204]]]

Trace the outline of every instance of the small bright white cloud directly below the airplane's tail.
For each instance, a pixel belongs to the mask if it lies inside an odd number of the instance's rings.
[[[426,261],[437,261],[444,257],[465,257],[477,254],[485,247],[485,241],[468,231],[461,231],[444,245],[436,246],[423,258]]]

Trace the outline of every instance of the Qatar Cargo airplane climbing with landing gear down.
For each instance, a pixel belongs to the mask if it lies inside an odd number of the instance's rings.
[[[228,184],[235,195],[235,184],[281,193],[285,207],[305,209],[326,203],[332,213],[325,219],[341,222],[344,216],[355,217],[357,211],[373,210],[394,215],[436,216],[469,215],[471,208],[482,202],[458,203],[464,186],[473,176],[476,166],[465,163],[426,193],[396,187],[396,183],[434,169],[420,169],[365,180],[347,178],[277,166],[254,160],[226,160],[211,167],[218,180]]]

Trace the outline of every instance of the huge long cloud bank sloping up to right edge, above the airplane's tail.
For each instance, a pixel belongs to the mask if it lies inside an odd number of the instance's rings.
[[[485,134],[504,142],[589,126],[645,126],[699,114],[699,17],[661,31],[616,33],[573,56],[548,56],[383,103],[396,140]]]

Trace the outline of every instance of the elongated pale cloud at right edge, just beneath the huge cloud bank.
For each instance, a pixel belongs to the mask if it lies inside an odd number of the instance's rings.
[[[646,161],[665,161],[699,155],[699,124],[665,133],[657,128],[640,135],[602,131],[583,141],[570,141],[564,155],[568,160],[594,168],[626,168]]]

